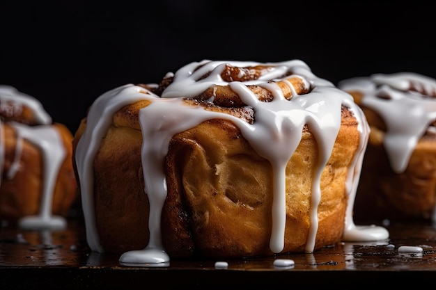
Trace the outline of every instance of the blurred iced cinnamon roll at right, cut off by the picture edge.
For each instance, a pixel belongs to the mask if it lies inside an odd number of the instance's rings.
[[[355,98],[371,127],[355,219],[434,219],[436,80],[400,72],[345,79],[338,87]]]

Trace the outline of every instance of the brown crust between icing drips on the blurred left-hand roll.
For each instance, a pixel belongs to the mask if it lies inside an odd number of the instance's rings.
[[[42,190],[42,157],[38,147],[24,140],[19,170],[13,179],[6,172],[13,164],[17,138],[15,129],[8,124],[1,125],[4,130],[5,161],[0,186],[0,216],[15,223],[23,216],[39,214]],[[52,213],[65,216],[77,195],[75,172],[72,168],[72,134],[63,124],[54,127],[61,133],[67,156],[59,171],[54,188]]]

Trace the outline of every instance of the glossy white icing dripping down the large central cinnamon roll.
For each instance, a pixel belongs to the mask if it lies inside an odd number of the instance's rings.
[[[226,64],[238,67],[262,65],[255,62],[238,61],[190,63],[173,74],[173,82],[164,90],[162,97],[158,97],[140,86],[129,84],[106,92],[95,100],[88,112],[86,130],[77,144],[75,156],[86,221],[86,238],[91,250],[104,252],[104,248],[100,244],[93,212],[93,159],[100,148],[102,138],[111,125],[114,113],[121,107],[140,99],[151,101],[149,106],[141,108],[139,111],[139,122],[143,134],[141,159],[146,184],[144,189],[150,202],[148,225],[150,239],[145,249],[133,250],[121,255],[121,264],[149,265],[169,261],[169,257],[164,257],[160,229],[160,215],[166,198],[166,180],[162,164],[171,137],[195,127],[205,120],[214,118],[231,120],[240,128],[242,135],[254,150],[272,164],[274,192],[270,248],[275,253],[281,252],[284,246],[286,163],[302,138],[304,125],[309,126],[318,144],[322,144],[319,146],[320,158],[313,178],[310,208],[311,226],[306,242],[306,252],[313,252],[318,231],[317,210],[321,197],[320,176],[332,153],[341,125],[341,105],[349,107],[359,122],[358,129],[359,134],[361,134],[358,156],[348,168],[346,182],[346,190],[349,195],[348,207],[352,207],[369,129],[363,113],[352,101],[352,97],[335,88],[329,81],[315,76],[306,63],[302,61],[266,63],[265,65],[273,65],[274,68],[260,76],[259,79],[231,83],[221,79],[221,72]],[[203,66],[196,70],[198,65]],[[201,76],[209,72],[210,74],[205,79],[201,79]],[[311,92],[299,96],[295,93],[293,86],[285,81],[294,94],[290,101],[287,100],[276,83],[269,83],[269,81],[288,79],[290,76],[285,76],[286,72],[292,72],[293,76],[302,78],[306,86],[313,88]],[[249,84],[256,84],[270,90],[274,96],[272,102],[260,102],[256,95],[247,88]],[[206,89],[217,85],[231,86],[244,104],[254,108],[256,122],[249,124],[225,113],[206,111],[202,106],[183,105],[181,97],[195,97]],[[356,234],[365,241],[387,239],[389,236],[386,229],[379,227],[367,227],[364,231],[356,227],[352,220],[352,209],[347,210],[344,223],[345,233],[351,233],[344,234],[345,239],[354,239]],[[156,252],[159,253],[157,258],[154,256]]]

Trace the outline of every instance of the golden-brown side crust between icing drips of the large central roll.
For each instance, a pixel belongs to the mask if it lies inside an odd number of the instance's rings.
[[[114,115],[95,158],[98,234],[108,252],[141,249],[148,243],[148,199],[143,192],[142,137],[137,123],[138,110],[146,105],[125,106]],[[74,144],[85,127],[86,119]],[[358,144],[357,120],[343,107],[337,142],[322,173],[316,249],[341,241],[348,201],[345,175]],[[318,145],[305,128],[286,168],[283,252],[305,250],[317,158]],[[162,211],[162,241],[173,259],[272,255],[272,167],[233,122],[208,120],[173,136],[164,170],[168,195]]]

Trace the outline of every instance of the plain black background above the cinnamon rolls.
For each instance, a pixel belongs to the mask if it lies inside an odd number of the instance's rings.
[[[436,17],[413,2],[88,2],[0,3],[0,83],[40,99],[71,131],[103,92],[206,58],[298,58],[335,84],[400,71],[436,78]]]

